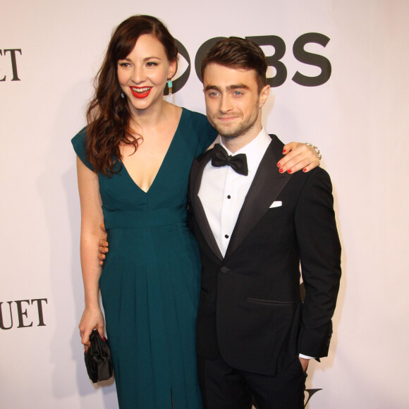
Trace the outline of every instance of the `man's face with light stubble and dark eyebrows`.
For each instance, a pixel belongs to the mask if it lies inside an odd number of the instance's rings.
[[[225,138],[251,135],[261,129],[261,108],[269,86],[258,92],[254,70],[228,68],[209,63],[203,75],[209,122]]]

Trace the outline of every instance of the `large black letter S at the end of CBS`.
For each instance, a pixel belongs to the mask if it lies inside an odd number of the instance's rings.
[[[301,63],[321,68],[321,73],[317,75],[317,77],[308,77],[297,71],[293,76],[293,81],[298,85],[303,85],[305,87],[317,87],[318,85],[326,83],[326,81],[329,80],[329,77],[331,77],[331,63],[324,56],[305,51],[305,44],[310,42],[325,47],[329,42],[329,37],[326,37],[326,35],[320,34],[319,32],[307,32],[300,35],[300,37],[294,42],[293,54],[295,59]]]

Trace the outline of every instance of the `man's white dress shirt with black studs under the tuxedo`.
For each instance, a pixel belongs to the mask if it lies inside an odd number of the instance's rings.
[[[204,166],[199,198],[223,257],[226,255],[240,209],[270,142],[271,138],[262,128],[255,139],[234,152],[235,155],[243,153],[247,157],[248,176],[240,175],[231,166],[212,166],[212,161]],[[222,141],[220,145],[229,155],[233,155]],[[312,357],[300,354],[300,358]]]

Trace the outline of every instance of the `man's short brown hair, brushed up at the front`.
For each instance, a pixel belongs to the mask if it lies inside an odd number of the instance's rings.
[[[258,44],[250,39],[240,37],[228,37],[216,42],[214,46],[204,54],[200,73],[204,78],[204,70],[209,63],[216,63],[228,68],[254,70],[258,92],[267,84],[267,59]]]

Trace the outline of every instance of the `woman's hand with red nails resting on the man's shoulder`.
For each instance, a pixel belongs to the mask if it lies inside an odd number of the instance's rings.
[[[319,166],[319,157],[315,149],[305,143],[290,142],[283,147],[285,155],[277,164],[279,172],[294,173],[303,169],[308,172]]]

